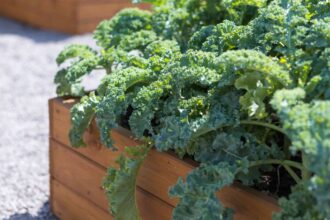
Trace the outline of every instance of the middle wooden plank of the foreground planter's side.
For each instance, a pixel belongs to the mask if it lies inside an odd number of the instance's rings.
[[[107,211],[108,201],[101,187],[106,169],[55,141],[50,141],[50,148],[52,177]],[[137,201],[144,220],[171,219],[173,207],[140,188]]]

